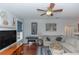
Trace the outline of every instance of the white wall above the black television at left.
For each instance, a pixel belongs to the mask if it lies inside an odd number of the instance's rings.
[[[6,13],[6,17],[7,17],[6,20],[8,22],[8,25],[3,24],[3,18],[1,17],[1,14],[0,14],[0,30],[16,30],[16,26],[13,26],[14,15],[3,9],[0,10],[0,13],[2,11],[4,11]],[[16,20],[15,20],[15,22],[16,22]]]

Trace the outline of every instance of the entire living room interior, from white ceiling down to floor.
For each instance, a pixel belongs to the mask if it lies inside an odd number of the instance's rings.
[[[0,4],[0,41],[4,43],[0,42],[0,55],[79,54],[77,6],[78,3]],[[8,36],[13,38],[6,43]]]

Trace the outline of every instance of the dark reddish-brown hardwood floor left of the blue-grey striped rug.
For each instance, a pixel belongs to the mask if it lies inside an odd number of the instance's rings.
[[[23,55],[36,55],[37,48],[38,48],[38,46],[36,43],[33,43],[30,46],[29,46],[29,44],[24,44],[23,45]]]

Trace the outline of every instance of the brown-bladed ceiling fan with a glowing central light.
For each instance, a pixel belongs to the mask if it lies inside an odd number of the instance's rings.
[[[54,12],[62,12],[63,11],[63,9],[54,10],[54,7],[55,7],[55,3],[50,3],[47,10],[37,9],[37,11],[43,11],[44,12],[40,16],[43,16],[43,15],[53,16]]]

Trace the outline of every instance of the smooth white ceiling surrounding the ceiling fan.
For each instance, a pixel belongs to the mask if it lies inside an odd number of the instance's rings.
[[[54,9],[63,9],[63,12],[54,13],[54,16],[40,16],[41,13],[36,9],[47,9],[48,3],[6,3],[0,4],[0,9],[5,9],[19,18],[42,19],[42,18],[79,18],[78,3],[56,3]]]

